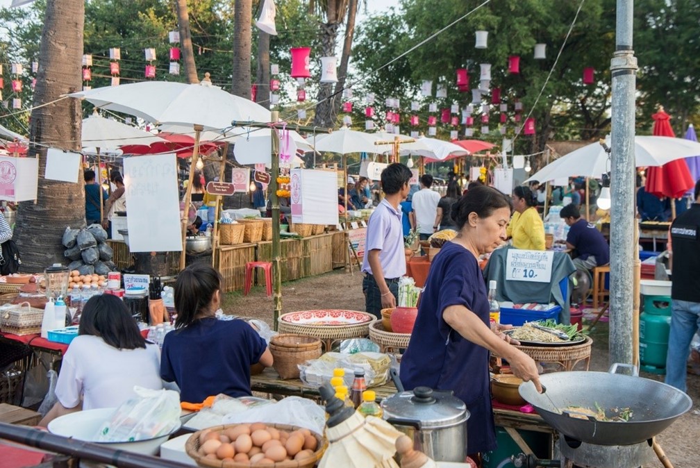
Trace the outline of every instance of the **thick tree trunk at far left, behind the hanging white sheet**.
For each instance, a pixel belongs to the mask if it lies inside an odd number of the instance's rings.
[[[60,97],[79,91],[82,86],[84,22],[84,0],[46,1],[29,128],[29,156],[39,159],[38,193],[36,204],[20,203],[14,233],[22,254],[22,271],[41,271],[55,262],[66,262],[61,245],[64,229],[85,226],[83,171],[79,171],[78,183],[43,178],[43,144],[80,150],[80,101]]]

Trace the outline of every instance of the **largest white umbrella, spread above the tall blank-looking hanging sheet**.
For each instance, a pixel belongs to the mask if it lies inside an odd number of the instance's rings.
[[[202,80],[195,85],[169,81],[143,81],[75,92],[99,108],[122,112],[157,124],[202,125],[216,130],[232,121],[269,122],[269,111],[249,99],[234,96]]]

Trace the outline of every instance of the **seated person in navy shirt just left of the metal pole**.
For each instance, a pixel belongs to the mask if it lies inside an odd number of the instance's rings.
[[[569,227],[566,247],[575,249],[573,264],[577,269],[592,270],[610,262],[610,246],[595,225],[581,218],[578,207],[568,204],[561,208],[561,219]]]

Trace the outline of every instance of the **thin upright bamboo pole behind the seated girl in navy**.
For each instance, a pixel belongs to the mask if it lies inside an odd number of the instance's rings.
[[[279,120],[279,111],[270,112],[270,120],[275,125]],[[282,311],[282,272],[279,269],[280,243],[279,243],[279,199],[277,197],[277,178],[279,177],[279,136],[276,129],[272,128],[272,180],[270,180],[270,205],[272,207],[272,324],[277,329],[277,319]],[[290,213],[291,216],[291,213]]]

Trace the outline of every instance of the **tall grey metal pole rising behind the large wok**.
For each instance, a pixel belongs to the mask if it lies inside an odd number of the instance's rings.
[[[634,92],[637,59],[632,50],[633,0],[617,0],[612,72],[610,166],[610,363],[632,363],[634,246]]]

